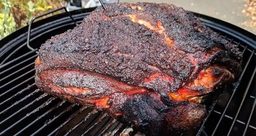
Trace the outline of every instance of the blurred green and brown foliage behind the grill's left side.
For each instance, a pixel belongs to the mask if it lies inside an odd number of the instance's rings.
[[[34,16],[61,6],[65,6],[65,1],[0,0],[0,39],[26,26]]]

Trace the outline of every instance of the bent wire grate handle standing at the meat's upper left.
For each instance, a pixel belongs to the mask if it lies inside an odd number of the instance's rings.
[[[37,18],[40,18],[40,17],[43,17],[43,16],[45,16],[45,15],[48,15],[48,14],[51,14],[51,13],[54,13],[54,12],[56,12],[56,11],[59,11],[59,10],[62,10],[62,9],[64,9],[65,10],[65,12],[69,15],[69,17],[72,19],[72,21],[74,22],[74,24],[77,26],[78,24],[76,23],[76,21],[74,20],[74,18],[69,14],[69,12],[67,11],[67,8],[66,7],[60,7],[60,8],[57,8],[56,10],[52,10],[52,11],[49,11],[49,12],[46,12],[46,13],[44,13],[44,14],[42,14],[42,15],[39,15],[39,16],[36,16],[36,17],[34,17],[34,18],[32,18],[32,20],[29,22],[29,26],[28,26],[28,38],[27,38],[27,47],[30,49],[30,50],[37,50],[37,49],[34,49],[34,48],[32,48],[30,45],[29,45],[29,43],[30,43],[30,31],[31,31],[31,25],[32,25],[32,23],[34,22],[34,20],[35,19],[37,19]],[[37,53],[38,53],[38,51],[36,51]]]

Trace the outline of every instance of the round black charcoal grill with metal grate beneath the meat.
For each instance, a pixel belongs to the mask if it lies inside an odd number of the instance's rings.
[[[119,135],[126,125],[82,105],[44,94],[34,83],[34,60],[42,43],[80,23],[95,8],[62,13],[32,23],[0,40],[0,135]],[[227,85],[202,124],[183,136],[256,135],[256,36],[227,22],[195,13],[243,53],[239,81]],[[72,18],[70,17],[72,16]],[[113,132],[113,130],[115,130]],[[133,130],[129,135],[136,135]]]

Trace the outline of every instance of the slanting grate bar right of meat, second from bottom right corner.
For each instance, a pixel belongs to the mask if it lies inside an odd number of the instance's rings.
[[[243,105],[243,103],[244,103],[244,100],[245,100],[245,98],[246,98],[247,92],[248,92],[248,90],[249,90],[249,88],[250,88],[250,86],[251,86],[251,84],[252,84],[252,81],[253,81],[253,78],[254,78],[255,73],[256,73],[256,67],[254,68],[252,77],[251,77],[251,79],[250,79],[250,81],[249,81],[249,83],[248,83],[248,85],[247,85],[247,87],[246,87],[246,90],[245,90],[244,95],[243,95],[242,102],[241,102],[241,104],[240,104],[240,106],[239,106],[239,108],[238,108],[237,114],[236,114],[236,116],[235,116],[235,118],[234,118],[234,120],[233,120],[233,122],[232,122],[232,125],[231,125],[231,127],[230,127],[230,129],[229,129],[229,131],[228,131],[228,135],[227,135],[227,136],[230,135],[230,133],[231,133],[231,131],[232,131],[232,129],[233,129],[234,123],[236,122],[237,117],[238,117],[238,115],[239,115],[239,113],[240,113],[240,110],[241,110],[242,105]]]

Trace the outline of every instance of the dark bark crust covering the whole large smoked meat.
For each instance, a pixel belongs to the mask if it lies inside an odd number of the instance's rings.
[[[241,73],[241,52],[180,7],[153,3],[106,6],[107,10],[97,8],[79,26],[40,47],[35,81],[41,90],[91,107],[95,105],[85,99],[108,96],[110,107],[100,110],[147,134],[163,135],[193,128],[206,114],[204,106],[172,102],[168,93],[193,82],[199,71],[213,65],[225,67],[234,79]],[[156,28],[161,22],[166,35],[126,15],[136,15]],[[168,46],[166,38],[173,45]],[[217,77],[223,71],[212,72]],[[154,74],[165,78],[148,80]],[[72,95],[52,86],[92,91]],[[147,92],[125,95],[129,89]],[[195,90],[208,92],[204,87]]]

